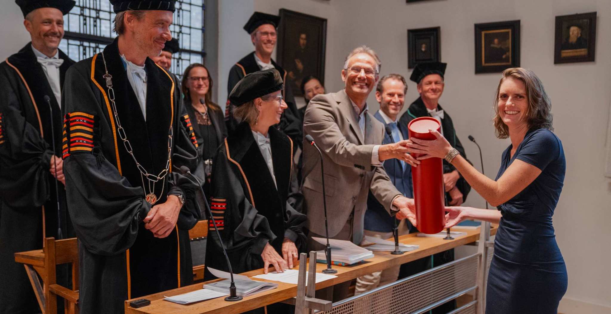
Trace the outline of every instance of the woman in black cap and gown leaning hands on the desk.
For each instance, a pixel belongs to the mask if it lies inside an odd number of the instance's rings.
[[[263,70],[244,77],[230,94],[241,123],[214,158],[211,210],[221,239],[210,221],[207,268],[229,271],[221,241],[236,273],[267,273],[270,264],[293,268],[298,247],[304,249],[306,216],[299,212],[294,145],[273,127],[287,108],[282,85],[277,70]],[[208,271],[204,276],[213,278]]]

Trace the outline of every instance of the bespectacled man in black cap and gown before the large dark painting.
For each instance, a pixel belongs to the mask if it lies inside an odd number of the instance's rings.
[[[280,72],[283,81],[287,79],[287,71],[281,68],[274,60],[271,59],[271,54],[276,47],[277,32],[276,28],[280,23],[280,17],[261,12],[252,13],[251,18],[244,25],[244,31],[251,35],[252,45],[255,46],[255,51],[243,57],[238,61],[231,70],[229,70],[229,81],[227,82],[227,95],[229,95],[235,84],[238,84],[240,79],[244,78],[249,73],[269,68],[276,68]],[[297,106],[295,97],[288,84],[285,84],[282,90],[282,96],[287,103],[288,109],[282,114],[282,119],[278,125],[278,129],[287,134],[294,143],[301,146],[302,142],[302,126],[301,120],[298,119]],[[227,131],[231,135],[238,126],[237,120],[233,117],[233,104],[227,99],[225,104],[225,122],[227,123]]]

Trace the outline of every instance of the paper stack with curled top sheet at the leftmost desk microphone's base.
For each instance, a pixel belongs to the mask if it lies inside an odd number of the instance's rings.
[[[203,288],[229,294],[229,287],[231,285],[229,272],[219,271],[214,268],[208,268],[208,271],[216,277],[225,278],[225,280],[207,283],[203,285]],[[277,283],[255,281],[249,277],[238,274],[233,274],[233,282],[235,282],[238,296],[252,296],[252,294],[262,293],[263,291],[272,290],[278,287]]]

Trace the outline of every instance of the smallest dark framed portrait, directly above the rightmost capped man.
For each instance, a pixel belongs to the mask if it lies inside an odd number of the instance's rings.
[[[408,68],[441,61],[439,27],[408,29]]]

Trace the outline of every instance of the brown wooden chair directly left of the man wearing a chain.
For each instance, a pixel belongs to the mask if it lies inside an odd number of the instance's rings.
[[[45,313],[57,312],[57,298],[64,298],[64,309],[67,314],[78,314],[79,260],[78,241],[76,238],[56,240],[45,238],[44,292],[46,298]],[[56,265],[71,264],[72,290],[57,284]]]

